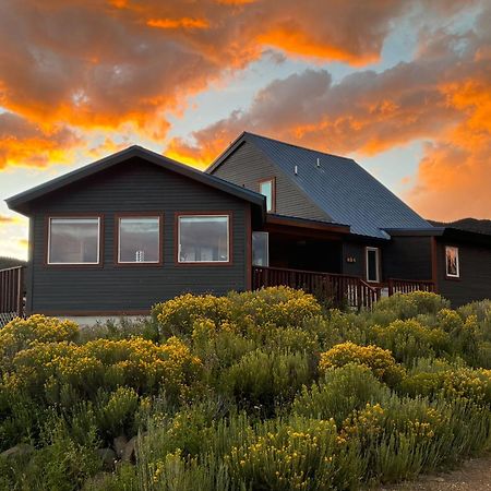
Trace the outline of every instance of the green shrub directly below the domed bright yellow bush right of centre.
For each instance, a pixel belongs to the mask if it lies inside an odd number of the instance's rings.
[[[334,418],[340,424],[352,410],[363,408],[367,403],[381,403],[388,396],[390,390],[368,367],[348,363],[327,369],[319,384],[303,386],[291,410],[310,418]]]

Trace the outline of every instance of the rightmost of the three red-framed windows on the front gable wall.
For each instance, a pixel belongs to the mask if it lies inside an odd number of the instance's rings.
[[[179,263],[229,263],[228,215],[180,215],[178,217]]]

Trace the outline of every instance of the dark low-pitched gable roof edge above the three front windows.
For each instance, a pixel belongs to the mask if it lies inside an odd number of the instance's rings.
[[[165,157],[139,145],[132,145],[123,151],[117,152],[116,154],[109,155],[108,157],[101,158],[100,160],[97,160],[93,164],[88,164],[40,185],[36,185],[35,188],[7,199],[5,203],[10,209],[25,213],[31,201],[36,200],[52,191],[57,191],[88,176],[93,176],[96,172],[100,172],[101,170],[108,169],[133,157],[140,157],[143,160],[159,166],[164,169],[179,173],[205,185],[209,185],[211,188],[215,188],[236,197],[248,201],[251,204],[258,206],[262,215],[265,216],[266,199],[262,194],[228,182],[216,176],[211,176],[208,173],[202,172],[201,170],[180,164],[176,160],[172,160],[171,158]]]

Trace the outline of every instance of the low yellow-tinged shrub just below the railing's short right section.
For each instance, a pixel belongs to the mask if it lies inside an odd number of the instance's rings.
[[[412,294],[395,294],[378,301],[374,312],[390,312],[395,319],[411,319],[418,314],[436,314],[448,308],[450,302],[443,297],[429,291],[414,291]]]

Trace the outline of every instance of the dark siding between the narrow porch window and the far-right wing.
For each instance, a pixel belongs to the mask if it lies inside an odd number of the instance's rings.
[[[387,278],[431,279],[431,237],[393,237],[383,263]]]

